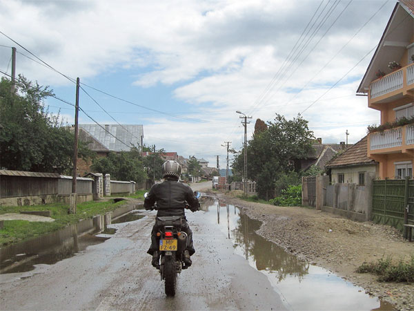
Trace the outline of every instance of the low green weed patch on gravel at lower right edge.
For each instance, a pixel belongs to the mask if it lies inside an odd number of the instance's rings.
[[[393,263],[391,257],[380,258],[376,263],[362,263],[357,268],[358,273],[371,273],[378,276],[382,282],[414,282],[414,255],[411,261],[405,262],[402,259]]]

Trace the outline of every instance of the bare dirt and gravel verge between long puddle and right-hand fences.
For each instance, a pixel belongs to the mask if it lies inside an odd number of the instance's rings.
[[[414,255],[414,243],[404,241],[397,229],[371,222],[357,223],[315,209],[275,207],[224,194],[218,196],[243,207],[250,218],[261,220],[263,225],[257,234],[291,254],[335,272],[400,310],[414,310],[414,284],[378,282],[376,276],[355,272],[364,262],[387,256],[395,261],[408,260]]]

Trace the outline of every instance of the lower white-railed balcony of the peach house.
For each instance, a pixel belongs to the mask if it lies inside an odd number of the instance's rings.
[[[414,153],[412,124],[368,135],[368,156],[386,153]]]

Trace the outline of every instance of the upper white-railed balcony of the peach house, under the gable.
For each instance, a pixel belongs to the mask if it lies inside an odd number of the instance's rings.
[[[413,96],[413,91],[414,64],[411,64],[371,82],[368,106],[378,109],[375,104],[392,102],[406,95]]]

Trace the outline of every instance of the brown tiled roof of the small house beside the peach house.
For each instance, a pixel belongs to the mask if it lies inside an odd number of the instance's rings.
[[[342,167],[347,165],[357,165],[357,164],[376,164],[373,159],[366,156],[368,136],[359,140],[352,147],[349,147],[344,151],[344,153],[337,156],[337,158],[329,161],[326,164],[326,167]]]

